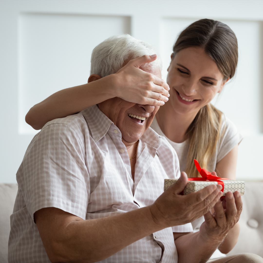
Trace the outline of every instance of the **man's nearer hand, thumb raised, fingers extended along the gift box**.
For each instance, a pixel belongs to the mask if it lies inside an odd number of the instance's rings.
[[[196,193],[181,195],[186,183],[187,175],[182,172],[179,180],[159,196],[150,207],[157,224],[170,227],[192,222],[207,214],[220,201],[221,185],[209,185]]]

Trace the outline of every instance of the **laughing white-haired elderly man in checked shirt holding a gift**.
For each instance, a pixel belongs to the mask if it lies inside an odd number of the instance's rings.
[[[93,50],[89,82],[153,53],[128,35],[109,38]],[[158,59],[142,69],[160,77]],[[17,173],[10,263],[209,259],[239,218],[240,196],[225,214],[220,185],[180,195],[185,173],[163,193],[165,178],[179,178],[179,161],[149,128],[158,108],[116,97],[43,127]],[[204,214],[200,232],[188,234]]]

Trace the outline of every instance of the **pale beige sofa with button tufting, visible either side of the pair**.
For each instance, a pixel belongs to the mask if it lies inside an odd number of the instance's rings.
[[[242,196],[240,235],[228,254],[250,252],[263,257],[263,182],[246,182]],[[0,184],[0,262],[7,263],[10,215],[13,212],[17,184]]]

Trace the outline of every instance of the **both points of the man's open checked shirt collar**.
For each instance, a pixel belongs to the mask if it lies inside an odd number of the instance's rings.
[[[82,115],[86,119],[92,138],[97,143],[109,130],[113,122],[99,109],[97,105],[93,105],[82,110]],[[146,144],[158,149],[161,146],[161,136],[152,128],[148,128],[140,138]]]

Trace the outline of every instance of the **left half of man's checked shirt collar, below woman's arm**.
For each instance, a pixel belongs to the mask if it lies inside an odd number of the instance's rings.
[[[97,143],[109,130],[113,122],[99,109],[93,105],[82,110],[82,115],[86,119],[93,140]]]

